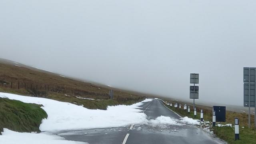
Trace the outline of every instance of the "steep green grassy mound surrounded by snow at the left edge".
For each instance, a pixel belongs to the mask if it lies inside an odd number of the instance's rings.
[[[8,128],[17,132],[40,132],[39,126],[46,112],[37,104],[0,98],[0,132]]]

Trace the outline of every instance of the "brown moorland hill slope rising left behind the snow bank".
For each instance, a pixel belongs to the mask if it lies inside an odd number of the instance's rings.
[[[50,98],[91,109],[132,104],[145,98],[136,92],[111,89],[114,90],[114,99],[108,97],[108,86],[81,82],[18,62],[0,59],[0,92]]]

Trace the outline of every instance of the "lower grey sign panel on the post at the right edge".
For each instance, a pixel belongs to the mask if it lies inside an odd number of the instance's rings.
[[[249,83],[244,83],[244,107],[249,107]],[[255,107],[254,83],[250,83],[250,107]]]

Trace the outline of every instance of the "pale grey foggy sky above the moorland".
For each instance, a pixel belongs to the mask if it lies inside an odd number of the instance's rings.
[[[243,105],[255,0],[1,0],[0,58],[113,87]],[[191,100],[192,102],[192,100]]]

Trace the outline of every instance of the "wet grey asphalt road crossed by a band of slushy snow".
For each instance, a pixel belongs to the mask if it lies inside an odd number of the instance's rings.
[[[148,120],[158,116],[180,117],[166,108],[159,100],[145,102],[140,106]],[[85,134],[86,133],[86,134]],[[89,144],[122,144],[129,134],[126,144],[222,144],[200,128],[192,125],[134,125],[118,128],[101,128],[62,132],[58,135],[66,140],[88,142]]]

